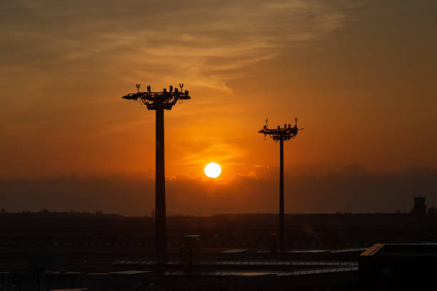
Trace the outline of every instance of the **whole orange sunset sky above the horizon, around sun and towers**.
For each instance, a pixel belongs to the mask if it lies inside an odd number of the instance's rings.
[[[286,212],[437,205],[436,16],[431,0],[4,1],[5,208],[150,213],[155,116],[121,99],[135,83],[192,98],[165,113],[169,213],[276,211],[267,117],[305,128],[284,147]]]

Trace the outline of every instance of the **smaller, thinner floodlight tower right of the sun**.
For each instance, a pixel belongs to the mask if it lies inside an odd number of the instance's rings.
[[[283,141],[289,141],[294,138],[299,130],[303,128],[297,127],[297,118],[294,118],[295,124],[291,127],[291,124],[278,126],[278,128],[270,129],[267,126],[268,118],[266,119],[266,125],[263,126],[261,131],[264,136],[268,135],[273,138],[273,141],[279,141],[279,250],[285,250],[285,230],[284,230],[284,212],[283,212]]]

